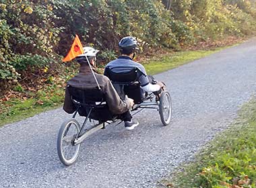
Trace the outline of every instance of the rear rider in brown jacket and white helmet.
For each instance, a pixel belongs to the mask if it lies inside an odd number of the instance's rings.
[[[122,100],[108,77],[96,73],[97,53],[98,50],[94,48],[84,47],[84,54],[76,58],[77,62],[80,64],[79,73],[67,81],[67,85],[82,89],[99,87],[104,93],[108,109],[114,114],[122,114],[123,120],[129,119],[129,113],[127,112],[129,112],[129,109],[131,109],[134,104],[133,99],[127,97],[125,100]],[[88,61],[90,64],[88,64]],[[71,95],[67,87],[65,90],[63,109],[67,113],[73,113],[76,110],[75,105],[71,101]]]

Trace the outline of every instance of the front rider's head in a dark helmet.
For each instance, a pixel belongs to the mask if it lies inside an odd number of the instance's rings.
[[[128,56],[135,56],[135,50],[137,50],[137,40],[132,36],[126,36],[119,41],[119,48],[121,54]]]

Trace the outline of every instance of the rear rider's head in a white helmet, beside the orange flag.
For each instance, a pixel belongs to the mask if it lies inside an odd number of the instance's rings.
[[[76,60],[79,62],[79,64],[88,64],[86,56],[90,62],[90,64],[96,66],[96,54],[99,52],[99,50],[95,50],[94,48],[90,46],[86,46],[83,48],[84,54],[80,54],[77,56]]]

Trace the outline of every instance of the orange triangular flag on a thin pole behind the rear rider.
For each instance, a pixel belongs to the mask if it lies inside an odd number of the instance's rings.
[[[79,56],[80,54],[84,54],[83,46],[81,44],[81,41],[79,40],[79,37],[75,35],[75,40],[71,46],[71,49],[69,50],[69,53],[65,58],[63,58],[63,62],[72,60],[73,58]]]

